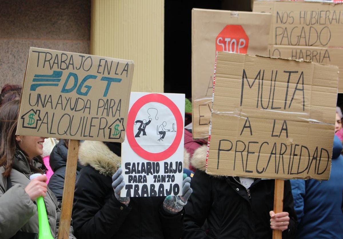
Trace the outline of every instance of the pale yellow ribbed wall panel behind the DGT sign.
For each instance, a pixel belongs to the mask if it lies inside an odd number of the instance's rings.
[[[93,55],[134,61],[132,91],[163,92],[164,1],[92,0]]]

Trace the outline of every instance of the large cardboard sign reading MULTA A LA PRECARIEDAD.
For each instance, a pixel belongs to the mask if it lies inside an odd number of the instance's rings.
[[[338,67],[218,52],[208,174],[327,180]]]

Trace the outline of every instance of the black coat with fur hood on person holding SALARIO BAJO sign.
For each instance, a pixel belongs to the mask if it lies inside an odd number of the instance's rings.
[[[164,197],[131,198],[128,206],[115,198],[111,176],[120,165],[120,157],[104,143],[82,143],[79,160],[87,166],[81,169],[75,185],[72,218],[77,238],[176,239],[182,236],[184,211],[175,216],[166,215],[162,209]]]

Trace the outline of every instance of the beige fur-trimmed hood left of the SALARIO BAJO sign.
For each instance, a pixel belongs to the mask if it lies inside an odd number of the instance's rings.
[[[121,157],[112,152],[103,142],[86,140],[80,143],[79,162],[83,166],[92,166],[100,174],[112,176],[121,164]]]

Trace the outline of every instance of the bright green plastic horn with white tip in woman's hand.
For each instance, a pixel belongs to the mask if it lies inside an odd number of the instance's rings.
[[[42,174],[32,174],[30,180],[40,176]],[[51,235],[48,216],[46,215],[44,198],[40,196],[37,198],[37,210],[38,210],[38,225],[39,225],[39,238],[38,239],[54,239]]]

